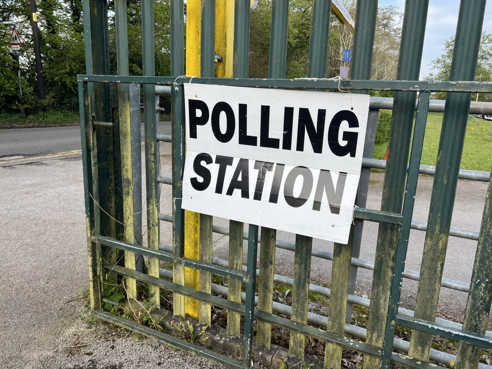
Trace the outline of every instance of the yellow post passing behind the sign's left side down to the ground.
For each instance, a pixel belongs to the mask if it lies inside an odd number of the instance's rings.
[[[201,50],[201,0],[186,2],[186,75],[200,76]],[[184,211],[184,256],[199,260],[200,257],[200,214]],[[198,290],[199,272],[184,268],[184,285]],[[184,298],[184,312],[198,319],[198,301]]]

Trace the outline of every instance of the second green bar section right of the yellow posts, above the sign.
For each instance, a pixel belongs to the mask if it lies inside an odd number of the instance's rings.
[[[289,1],[273,0],[268,78],[285,78]]]

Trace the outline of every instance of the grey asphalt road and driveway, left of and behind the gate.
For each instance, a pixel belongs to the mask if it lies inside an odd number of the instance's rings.
[[[161,132],[167,129],[162,124]],[[88,323],[80,313],[82,303],[70,301],[88,285],[82,161],[74,153],[80,150],[78,140],[78,127],[0,131],[0,368],[153,367],[142,363],[218,368],[150,339],[113,337],[118,331]],[[57,145],[61,145],[58,150]],[[23,157],[13,159],[15,156]],[[161,144],[161,170],[163,176],[171,174],[170,144]],[[383,176],[372,174],[368,208],[380,207]],[[431,188],[432,177],[419,178],[414,219],[427,221]],[[486,191],[486,183],[459,181],[453,226],[479,229]],[[171,188],[163,185],[161,212],[171,210]],[[143,221],[145,224],[145,217]],[[215,218],[214,222],[228,226],[226,219]],[[287,232],[277,235],[295,240]],[[424,237],[424,232],[411,231],[407,269],[420,271]],[[377,224],[366,222],[362,258],[374,260],[376,239]],[[161,240],[172,244],[170,223],[161,222]],[[469,282],[476,245],[451,237],[444,277]],[[245,262],[246,247],[245,243]],[[321,240],[314,240],[313,247],[333,251],[332,243]],[[227,237],[215,234],[213,256],[227,259],[227,255]],[[277,249],[276,273],[292,277],[293,259],[292,251]],[[311,279],[331,282],[331,262],[313,258]],[[372,272],[360,269],[357,294],[370,296],[371,282]],[[416,291],[416,281],[404,281],[404,307],[413,307]],[[466,297],[463,292],[442,288],[439,316],[460,321]],[[87,341],[97,343],[85,345]],[[182,361],[174,362],[176,357]]]

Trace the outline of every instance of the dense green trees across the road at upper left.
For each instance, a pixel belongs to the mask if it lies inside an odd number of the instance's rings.
[[[17,62],[7,45],[12,28],[0,26],[0,112],[28,114],[44,107],[50,111],[78,110],[77,74],[86,72],[82,0],[37,0],[38,29],[46,100],[38,98],[34,47],[28,0],[0,1],[0,20],[15,21],[23,41],[19,93]],[[108,1],[111,73],[117,73],[114,0]],[[154,1],[155,73],[170,74],[169,0]],[[130,75],[142,75],[141,0],[127,1],[128,61]]]

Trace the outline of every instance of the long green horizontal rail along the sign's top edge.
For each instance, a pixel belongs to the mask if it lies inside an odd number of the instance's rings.
[[[144,85],[170,86],[173,84],[201,83],[206,85],[265,87],[283,89],[346,89],[373,91],[429,91],[429,92],[480,92],[492,93],[492,82],[478,81],[370,81],[325,78],[204,78],[204,77],[151,77],[151,76],[110,76],[79,74],[77,82],[139,83]]]

